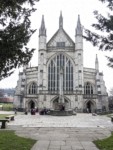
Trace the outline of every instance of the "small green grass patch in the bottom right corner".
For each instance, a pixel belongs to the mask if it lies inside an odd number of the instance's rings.
[[[94,143],[100,150],[113,150],[113,133],[110,137],[94,141]]]

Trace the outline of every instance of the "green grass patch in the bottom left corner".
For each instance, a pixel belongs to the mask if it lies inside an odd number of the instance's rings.
[[[18,137],[14,131],[0,131],[0,150],[30,150],[36,140]]]

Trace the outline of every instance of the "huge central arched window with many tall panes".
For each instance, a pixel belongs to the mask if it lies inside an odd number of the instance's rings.
[[[71,60],[63,54],[56,55],[48,66],[48,90],[59,90],[59,75],[63,68],[63,90],[73,90],[73,65]]]

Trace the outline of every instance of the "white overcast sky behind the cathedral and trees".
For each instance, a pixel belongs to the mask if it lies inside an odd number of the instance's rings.
[[[59,27],[59,15],[62,11],[64,30],[75,41],[75,28],[78,14],[80,15],[81,24],[91,29],[91,24],[96,20],[93,11],[99,10],[107,14],[105,5],[99,0],[40,0],[36,5],[37,11],[32,15],[32,28],[37,29],[32,36],[29,47],[36,48],[31,60],[31,66],[38,65],[38,31],[41,24],[42,15],[44,15],[47,29],[47,41],[53,36]],[[94,68],[95,57],[98,54],[100,72],[104,73],[104,80],[107,89],[113,87],[113,69],[107,66],[105,55],[113,55],[113,52],[101,52],[97,47],[93,47],[89,42],[84,40],[84,67]],[[15,87],[18,80],[18,73],[22,69],[17,69],[15,73],[0,82],[0,88]]]

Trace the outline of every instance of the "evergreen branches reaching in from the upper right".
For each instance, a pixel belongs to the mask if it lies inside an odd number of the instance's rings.
[[[113,0],[99,0],[107,5],[109,13],[107,17],[100,14],[97,10],[94,11],[94,15],[98,23],[92,24],[97,32],[92,32],[85,29],[86,35],[84,38],[90,41],[93,46],[98,46],[99,50],[112,51],[113,50]],[[98,33],[99,31],[99,33]],[[108,66],[113,67],[113,58],[107,57],[109,60]]]

